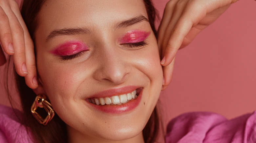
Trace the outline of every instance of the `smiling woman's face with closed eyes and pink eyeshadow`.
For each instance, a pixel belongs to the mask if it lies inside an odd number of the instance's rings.
[[[47,1],[35,46],[42,84],[36,92],[49,97],[70,140],[142,136],[162,87],[142,0]]]

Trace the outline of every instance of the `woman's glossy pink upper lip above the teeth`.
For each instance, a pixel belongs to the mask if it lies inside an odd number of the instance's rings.
[[[127,93],[131,93],[132,91],[136,90],[137,86],[126,86],[126,87],[117,87],[117,88],[113,88],[113,89],[108,89],[108,90],[104,90],[104,91],[100,91],[92,96],[90,96],[89,98],[104,98],[104,97],[111,97],[111,96],[115,96],[115,95],[122,95],[122,94],[127,94]]]

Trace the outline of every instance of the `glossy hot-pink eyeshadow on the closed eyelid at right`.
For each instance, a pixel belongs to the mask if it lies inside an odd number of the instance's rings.
[[[121,44],[124,43],[138,43],[144,41],[150,32],[140,31],[140,30],[133,30],[128,31],[119,41]]]

